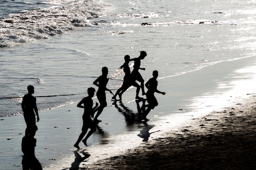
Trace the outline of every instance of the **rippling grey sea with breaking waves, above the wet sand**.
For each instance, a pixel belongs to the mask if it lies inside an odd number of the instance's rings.
[[[22,114],[29,84],[39,110],[73,103],[103,66],[115,93],[124,56],[142,50],[148,53],[141,62],[145,81],[153,70],[171,82],[256,55],[255,7],[256,0],[1,1],[0,116]]]

